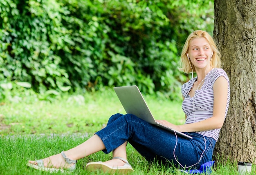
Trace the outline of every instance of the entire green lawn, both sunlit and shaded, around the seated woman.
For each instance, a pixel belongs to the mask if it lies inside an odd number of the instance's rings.
[[[145,96],[145,100],[157,119],[169,120],[174,124],[184,122],[180,102],[170,102],[149,95]],[[48,157],[81,144],[104,127],[110,115],[114,113],[125,112],[112,90],[86,93],[83,96],[64,95],[52,102],[27,96],[22,98],[21,102],[2,103],[0,175],[49,174],[28,168],[27,161]],[[127,153],[128,161],[135,170],[132,173],[134,175],[182,174],[174,168],[149,164],[129,144]],[[72,174],[90,174],[85,171],[88,162],[106,161],[111,157],[111,153],[106,155],[98,152],[80,159],[77,170]],[[225,164],[218,164],[212,175],[238,175],[236,165],[236,162],[228,161]]]

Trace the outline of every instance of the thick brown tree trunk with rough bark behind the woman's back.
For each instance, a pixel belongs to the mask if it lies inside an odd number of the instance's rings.
[[[213,38],[231,100],[214,155],[256,163],[256,1],[215,0]]]

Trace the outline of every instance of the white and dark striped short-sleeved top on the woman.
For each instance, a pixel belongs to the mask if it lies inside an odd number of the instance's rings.
[[[213,84],[219,78],[223,76],[227,79],[228,82],[228,99],[226,104],[225,118],[227,116],[227,111],[229,109],[229,100],[230,100],[230,87],[229,87],[229,78],[227,73],[220,68],[214,68],[204,78],[204,83],[202,84],[201,89],[195,91],[194,97],[189,96],[189,92],[197,80],[197,77],[191,78],[188,82],[182,85],[182,95],[184,100],[182,102],[182,110],[186,114],[185,124],[200,122],[207,118],[212,117],[213,115]],[[194,107],[193,107],[194,106]],[[220,129],[213,129],[208,131],[196,132],[207,137],[212,137],[214,140],[218,140]]]

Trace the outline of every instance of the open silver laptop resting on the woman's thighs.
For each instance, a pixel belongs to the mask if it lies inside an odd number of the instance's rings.
[[[148,109],[148,106],[143,96],[141,95],[139,88],[136,85],[114,87],[114,90],[126,113],[136,115],[137,117],[147,121],[150,124],[155,124],[161,128],[171,131],[172,133],[176,133],[181,137],[192,139],[192,137],[189,135],[186,135],[180,131],[176,131],[159,122],[156,122],[152,113]]]

